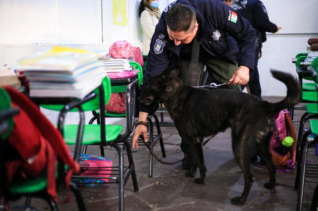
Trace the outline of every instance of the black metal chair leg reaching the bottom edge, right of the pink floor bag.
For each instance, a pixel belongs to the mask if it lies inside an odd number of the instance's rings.
[[[113,142],[112,146],[117,150],[119,157],[119,168],[118,168],[118,186],[119,186],[119,210],[124,211],[124,155],[121,148]]]

